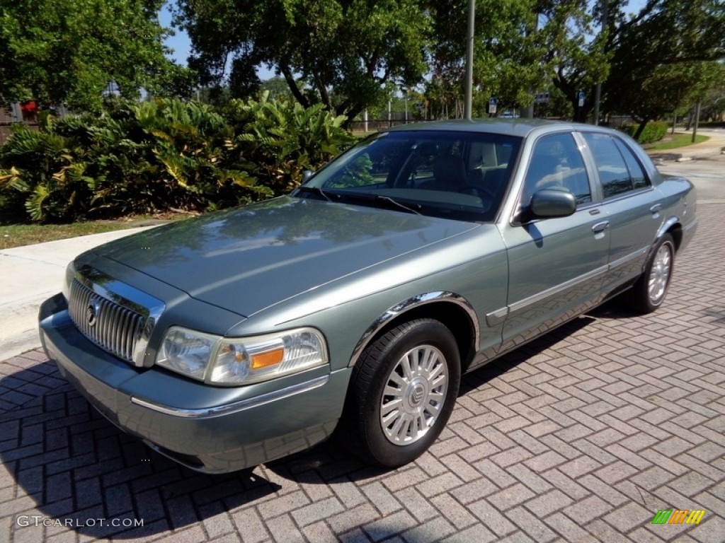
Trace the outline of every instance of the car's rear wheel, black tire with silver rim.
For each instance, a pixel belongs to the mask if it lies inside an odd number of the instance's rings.
[[[629,306],[643,315],[662,305],[672,279],[675,263],[675,244],[672,236],[663,235],[647,261],[645,271],[630,292],[625,292]]]

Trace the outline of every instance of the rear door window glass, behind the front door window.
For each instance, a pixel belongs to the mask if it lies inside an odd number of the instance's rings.
[[[642,166],[624,143],[608,134],[583,132],[592,151],[604,198],[613,198],[649,185]]]

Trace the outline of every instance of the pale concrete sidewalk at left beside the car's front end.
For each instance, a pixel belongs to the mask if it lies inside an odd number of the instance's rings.
[[[97,245],[150,227],[115,230],[0,251],[0,361],[38,347],[38,308],[60,292],[65,266]]]

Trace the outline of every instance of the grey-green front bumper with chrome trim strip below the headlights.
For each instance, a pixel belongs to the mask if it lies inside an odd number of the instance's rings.
[[[56,295],[41,306],[48,358],[91,405],[125,432],[189,468],[224,473],[305,450],[341,416],[349,369],[328,366],[246,387],[210,387],[137,368],[78,332]]]

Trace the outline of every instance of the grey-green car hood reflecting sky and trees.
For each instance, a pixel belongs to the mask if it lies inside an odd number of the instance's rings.
[[[248,317],[477,226],[282,197],[145,230],[93,252]]]

